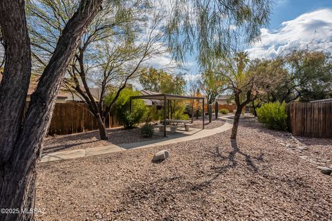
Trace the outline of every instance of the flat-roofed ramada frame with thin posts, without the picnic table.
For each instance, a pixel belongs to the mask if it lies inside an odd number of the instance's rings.
[[[170,100],[202,100],[203,101],[203,110],[204,110],[204,97],[188,97],[181,95],[169,95],[169,94],[153,94],[153,95],[138,95],[130,97],[130,111],[131,111],[131,100],[132,99],[159,99],[164,101],[164,137],[166,137],[166,117],[167,117],[167,101]],[[167,108],[168,109],[168,108]],[[194,106],[192,105],[192,113],[194,110]],[[204,113],[203,113],[203,129],[204,129]]]

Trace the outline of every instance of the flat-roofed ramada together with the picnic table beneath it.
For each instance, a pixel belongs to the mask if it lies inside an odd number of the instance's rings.
[[[198,102],[202,100],[203,103],[203,110],[204,110],[204,97],[189,97],[189,96],[182,96],[182,95],[170,95],[170,94],[153,94],[153,95],[138,95],[138,96],[132,96],[130,97],[130,111],[131,111],[131,100],[132,99],[158,99],[158,100],[163,100],[164,105],[164,119],[163,119],[163,124],[159,124],[158,127],[160,128],[160,131],[163,130],[164,132],[164,137],[166,137],[166,126],[167,123],[171,124],[171,131],[175,132],[176,127],[179,125],[185,126],[185,131],[189,130],[190,126],[190,121],[188,120],[181,120],[181,119],[167,119],[167,116],[169,112],[167,107],[167,102],[171,100],[197,100]],[[194,106],[192,105],[192,113],[194,110]],[[192,120],[193,121],[193,115],[192,115]],[[202,128],[204,129],[204,114],[202,117]]]

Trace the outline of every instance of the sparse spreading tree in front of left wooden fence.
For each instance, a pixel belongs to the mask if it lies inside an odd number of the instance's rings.
[[[151,12],[148,19],[142,12],[143,6],[147,6],[145,1],[127,1],[125,6],[115,8],[106,1],[102,5],[104,10],[84,32],[64,80],[68,89],[88,104],[89,111],[97,119],[102,140],[107,140],[105,119],[121,90],[138,75],[144,61],[161,52],[160,46],[156,46],[162,37],[160,15],[146,7]],[[49,0],[30,3],[31,26],[43,24],[42,28],[31,31],[33,55],[39,66],[42,66],[43,59],[50,56],[56,34],[62,30],[62,21],[68,19],[67,14],[74,7],[75,1],[58,6]],[[91,86],[100,90],[98,97],[91,93]],[[106,96],[113,100],[106,103]]]

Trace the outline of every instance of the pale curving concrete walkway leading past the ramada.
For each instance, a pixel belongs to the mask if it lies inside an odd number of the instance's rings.
[[[42,155],[41,162],[51,162],[57,160],[68,160],[80,157],[89,157],[93,155],[102,155],[107,153],[115,153],[119,151],[126,151],[129,149],[146,148],[150,146],[162,146],[166,144],[175,144],[179,142],[187,142],[188,140],[196,140],[203,137],[208,137],[216,133],[228,131],[232,128],[232,120],[226,120],[225,124],[219,128],[198,130],[192,135],[181,133],[169,134],[167,137],[160,140],[151,140],[146,142],[136,142],[131,144],[112,144],[109,146],[97,146],[86,149],[77,149],[71,151],[58,151],[55,153],[47,153]]]

